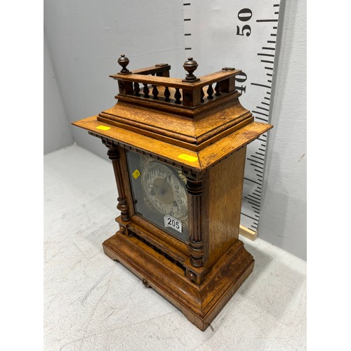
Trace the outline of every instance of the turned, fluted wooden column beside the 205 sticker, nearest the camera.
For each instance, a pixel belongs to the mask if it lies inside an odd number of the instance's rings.
[[[201,195],[204,190],[202,176],[183,170],[187,178],[187,201],[189,208],[189,244],[190,262],[194,267],[204,266],[204,242],[201,233]]]

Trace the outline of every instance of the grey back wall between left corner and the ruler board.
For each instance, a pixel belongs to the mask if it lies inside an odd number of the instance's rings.
[[[69,121],[112,107],[125,53],[128,69],[167,62],[171,75],[183,71],[183,1],[45,0],[44,26]],[[183,73],[182,73],[183,74]],[[72,127],[78,145],[106,157],[105,147]]]

